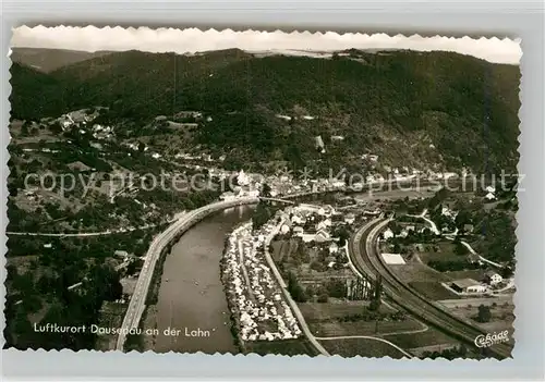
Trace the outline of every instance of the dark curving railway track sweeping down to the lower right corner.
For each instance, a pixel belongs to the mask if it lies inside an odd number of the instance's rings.
[[[354,266],[372,280],[377,275],[383,278],[384,292],[399,306],[422,321],[435,326],[459,341],[474,345],[479,335],[486,332],[472,323],[455,317],[436,303],[429,301],[412,287],[401,282],[378,256],[377,236],[389,220],[376,220],[366,224],[350,241],[350,256]],[[496,358],[511,357],[512,346],[506,343],[495,344],[487,348]]]

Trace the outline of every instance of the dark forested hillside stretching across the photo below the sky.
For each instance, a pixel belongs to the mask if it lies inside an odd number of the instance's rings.
[[[457,53],[126,51],[47,75],[16,63],[11,72],[13,118],[92,106],[133,121],[199,110],[213,118],[201,126],[199,143],[242,159],[304,162],[316,157],[312,136],[322,135],[325,156],[373,152],[392,163],[475,171],[514,170],[518,162],[519,66]],[[343,137],[342,146],[334,136]]]

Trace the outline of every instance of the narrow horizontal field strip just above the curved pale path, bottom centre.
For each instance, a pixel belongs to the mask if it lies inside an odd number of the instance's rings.
[[[308,326],[317,337],[336,337],[344,335],[380,335],[423,329],[413,319],[404,321],[355,321],[355,322],[313,322]],[[376,331],[378,330],[378,331]]]

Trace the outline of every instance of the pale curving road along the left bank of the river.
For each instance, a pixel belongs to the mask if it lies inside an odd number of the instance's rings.
[[[123,318],[123,323],[120,328],[120,333],[116,345],[117,350],[123,350],[123,345],[125,343],[129,331],[138,328],[140,320],[142,318],[142,315],[144,313],[147,292],[152,283],[155,266],[160,257],[160,254],[167,247],[167,245],[174,241],[180,233],[183,233],[210,213],[230,207],[254,205],[258,201],[258,198],[240,198],[229,201],[218,201],[204,206],[202,208],[187,212],[181,219],[171,224],[166,231],[161,232],[154,238],[152,245],[149,246],[149,249],[147,250],[144,266],[142,267],[142,271],[138,275],[138,281],[136,282],[134,293],[131,296],[125,317]]]

